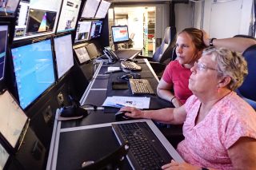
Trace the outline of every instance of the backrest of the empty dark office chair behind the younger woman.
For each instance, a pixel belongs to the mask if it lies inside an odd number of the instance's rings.
[[[176,36],[175,27],[167,27],[165,30],[164,38],[161,45],[156,49],[153,54],[152,61],[163,63],[171,57],[172,42]]]

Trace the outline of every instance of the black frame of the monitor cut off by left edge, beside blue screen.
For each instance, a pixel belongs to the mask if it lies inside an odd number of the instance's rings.
[[[9,53],[9,38],[10,38],[10,23],[9,22],[0,22],[0,26],[7,26],[7,36],[6,36],[6,56],[4,58],[4,65],[3,65],[3,71],[2,71],[2,79],[0,78],[0,92],[5,89],[5,82],[6,82],[6,61],[7,61],[7,55]]]

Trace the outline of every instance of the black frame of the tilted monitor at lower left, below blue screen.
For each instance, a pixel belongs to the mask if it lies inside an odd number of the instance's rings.
[[[2,91],[2,93],[0,95],[2,95],[3,93],[10,93],[10,91],[8,89],[5,89],[4,91]],[[18,150],[21,148],[22,146],[22,142],[26,136],[26,132],[30,126],[30,118],[27,117],[26,113],[24,112],[24,109],[22,109],[22,107],[19,105],[18,101],[16,100],[16,98],[13,96],[12,93],[10,93],[10,97],[12,97],[14,99],[14,101],[17,103],[18,108],[21,109],[24,113],[24,115],[26,116],[26,122],[24,124],[24,126],[22,127],[22,132],[20,134],[20,136],[18,136],[18,140],[15,144],[15,146],[13,147],[10,142],[6,139],[5,136],[3,136],[3,134],[0,132],[0,138],[2,140],[2,144],[6,145],[6,151],[9,152],[10,154],[15,154],[16,152],[18,152]]]

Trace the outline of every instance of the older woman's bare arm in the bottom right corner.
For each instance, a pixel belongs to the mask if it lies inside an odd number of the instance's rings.
[[[234,169],[256,169],[256,140],[241,137],[229,149],[228,154]]]

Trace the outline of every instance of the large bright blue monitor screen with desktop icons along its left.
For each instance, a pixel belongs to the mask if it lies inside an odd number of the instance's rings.
[[[11,52],[18,98],[22,109],[26,109],[55,81],[51,42],[35,42],[11,49]]]

